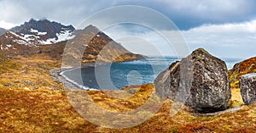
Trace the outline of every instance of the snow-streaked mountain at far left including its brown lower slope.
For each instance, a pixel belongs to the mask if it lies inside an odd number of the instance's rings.
[[[61,25],[48,19],[30,19],[0,36],[0,51],[15,55],[41,53],[40,46],[72,39],[74,31],[72,25]]]

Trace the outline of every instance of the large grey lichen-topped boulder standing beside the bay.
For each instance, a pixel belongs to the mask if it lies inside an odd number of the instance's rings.
[[[185,103],[200,113],[228,108],[231,97],[226,64],[202,48],[171,64],[154,84],[160,97]]]

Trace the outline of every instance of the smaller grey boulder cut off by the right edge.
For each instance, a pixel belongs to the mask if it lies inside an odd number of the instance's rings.
[[[245,104],[256,103],[256,73],[241,75],[240,88]]]

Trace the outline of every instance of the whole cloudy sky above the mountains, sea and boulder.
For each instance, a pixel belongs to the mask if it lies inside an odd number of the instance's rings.
[[[256,56],[254,0],[0,0],[0,27],[9,29],[33,18],[54,20],[78,28],[89,16],[120,5],[143,6],[166,15],[177,25],[191,51],[203,47],[220,58]],[[168,32],[168,29],[161,30]],[[160,49],[160,53],[173,54],[172,48],[165,47],[167,44],[163,38],[138,25],[116,25],[104,31],[131,51],[136,51],[136,48],[132,49],[129,43],[139,37],[143,39],[142,43],[152,43]],[[124,39],[124,36],[135,39]],[[138,47],[135,43],[132,42],[133,47]],[[149,54],[152,50],[142,53]]]

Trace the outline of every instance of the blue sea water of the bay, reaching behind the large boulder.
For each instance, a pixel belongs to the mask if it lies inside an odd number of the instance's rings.
[[[231,69],[240,58],[221,58]],[[68,69],[61,75],[85,90],[119,90],[124,86],[154,83],[160,72],[180,60],[176,57],[149,57],[136,61],[113,64],[96,64],[83,68]]]

